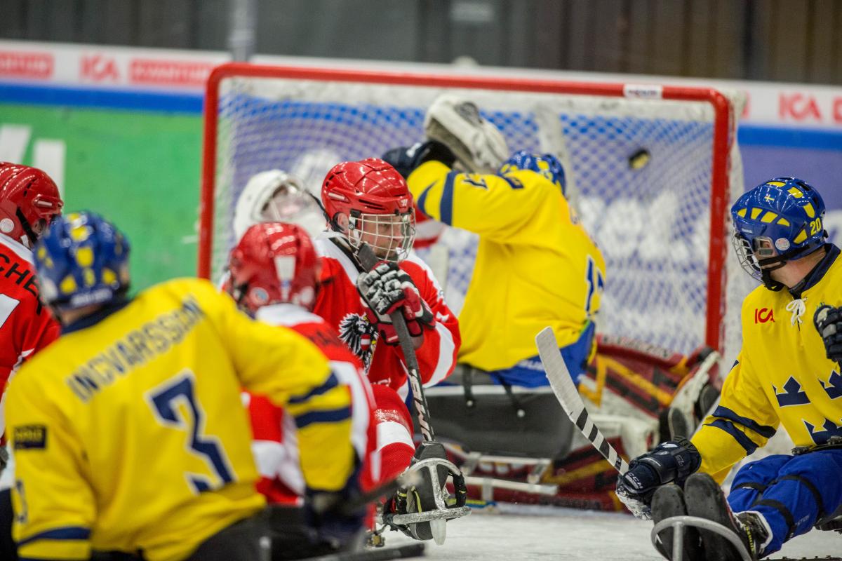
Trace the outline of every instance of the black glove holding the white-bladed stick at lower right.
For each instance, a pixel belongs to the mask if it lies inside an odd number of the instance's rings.
[[[652,452],[634,458],[617,479],[617,497],[634,516],[649,519],[652,495],[661,485],[683,485],[701,465],[701,455],[686,438],[662,442]]]

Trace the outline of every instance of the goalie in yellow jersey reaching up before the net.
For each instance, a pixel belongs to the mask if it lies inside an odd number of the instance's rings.
[[[426,140],[384,157],[407,177],[421,213],[479,235],[459,363],[498,384],[547,385],[534,338],[552,325],[578,380],[594,349],[605,261],[565,198],[562,164],[551,154],[509,157],[477,106],[452,95],[436,100],[427,121],[445,130],[446,145]]]

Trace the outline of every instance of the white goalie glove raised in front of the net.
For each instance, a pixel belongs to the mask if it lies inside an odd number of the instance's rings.
[[[430,105],[424,133],[450,148],[466,172],[495,173],[509,157],[503,133],[482,119],[476,103],[452,93]]]

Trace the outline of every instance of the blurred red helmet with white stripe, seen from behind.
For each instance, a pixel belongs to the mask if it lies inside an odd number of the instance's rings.
[[[232,249],[228,270],[228,289],[251,314],[262,306],[281,303],[312,310],[316,302],[318,257],[301,226],[283,222],[253,225]]]

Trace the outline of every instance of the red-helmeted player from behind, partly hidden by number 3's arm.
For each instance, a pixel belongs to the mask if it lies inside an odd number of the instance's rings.
[[[301,226],[279,222],[253,225],[237,242],[228,260],[231,295],[241,310],[257,320],[283,325],[306,336],[328,357],[335,376],[333,382],[351,389],[351,439],[361,468],[360,485],[362,490],[370,490],[380,483],[380,460],[374,450],[374,397],[360,361],[339,340],[336,331],[312,313],[320,268],[312,241]],[[252,449],[260,473],[258,491],[271,504],[295,507],[306,495],[296,421],[264,396],[246,393],[244,400],[254,433]],[[338,530],[344,525],[350,537],[360,531],[363,514],[365,510],[344,518],[335,514],[331,523]],[[315,557],[335,549],[318,535],[312,535],[316,532],[307,527],[299,511],[278,509],[273,515],[273,558]],[[271,523],[274,521],[280,524]]]

